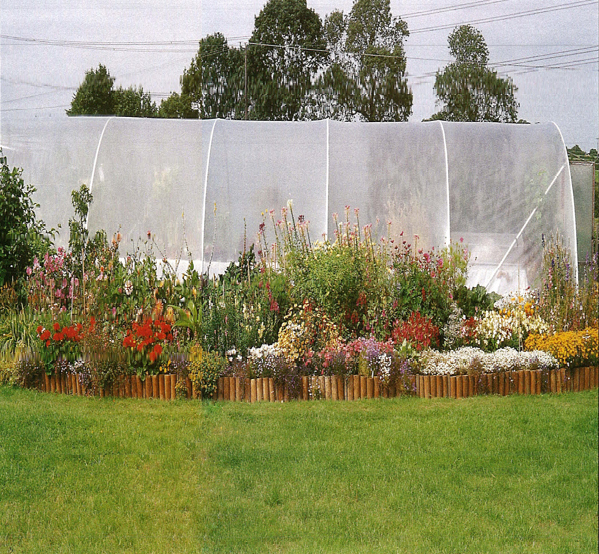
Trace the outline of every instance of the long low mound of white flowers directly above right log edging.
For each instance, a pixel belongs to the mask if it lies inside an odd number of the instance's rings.
[[[546,352],[518,352],[509,347],[495,352],[483,352],[472,346],[451,352],[426,350],[418,360],[418,368],[424,375],[465,375],[524,369],[548,370],[557,367],[557,360]]]

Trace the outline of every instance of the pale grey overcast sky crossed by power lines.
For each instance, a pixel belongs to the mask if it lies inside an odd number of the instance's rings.
[[[244,44],[265,0],[0,0],[0,116],[65,117],[85,71],[104,64],[116,85],[153,99],[179,92],[197,42],[221,32]],[[308,0],[324,19],[352,0]],[[597,0],[391,0],[408,23],[410,121],[437,108],[434,72],[450,61],[447,37],[471,23],[490,65],[518,87],[519,117],[554,121],[567,146],[599,141]],[[25,40],[26,39],[26,40]],[[145,44],[140,44],[145,43]]]

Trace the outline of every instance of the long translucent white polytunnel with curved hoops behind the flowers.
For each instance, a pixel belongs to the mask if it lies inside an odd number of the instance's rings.
[[[70,193],[87,184],[88,228],[148,232],[159,257],[223,271],[253,241],[263,212],[293,200],[313,239],[359,209],[379,235],[422,248],[463,240],[469,285],[534,285],[543,235],[576,259],[566,148],[553,123],[342,123],[76,117],[2,122],[11,166],[36,189],[39,215],[68,242]],[[389,222],[391,223],[389,227]]]

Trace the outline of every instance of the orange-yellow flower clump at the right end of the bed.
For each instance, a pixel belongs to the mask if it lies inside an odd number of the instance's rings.
[[[564,331],[554,335],[531,334],[524,343],[526,350],[552,354],[561,367],[597,365],[599,359],[597,329]]]

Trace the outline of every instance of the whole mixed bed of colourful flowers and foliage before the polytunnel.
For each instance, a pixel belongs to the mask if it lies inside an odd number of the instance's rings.
[[[190,377],[209,397],[224,375],[273,377],[297,391],[301,376],[361,374],[407,392],[416,373],[597,363],[597,341],[584,338],[597,335],[597,258],[577,283],[559,237],[539,237],[536,288],[501,298],[466,286],[461,239],[423,249],[417,235],[375,237],[347,206],[333,214],[334,234],[317,241],[289,201],[280,215],[263,213],[255,241],[222,275],[200,274],[191,255],[181,274],[151,232],[125,255],[118,229],[90,237],[85,185],[72,194],[69,248],[53,249],[31,219],[20,170],[2,171],[7,191],[24,191],[32,241],[19,258],[20,284],[0,289],[5,382],[35,386],[44,372],[74,373],[91,394],[121,374],[177,373],[178,394]],[[19,294],[22,308],[11,301]]]

